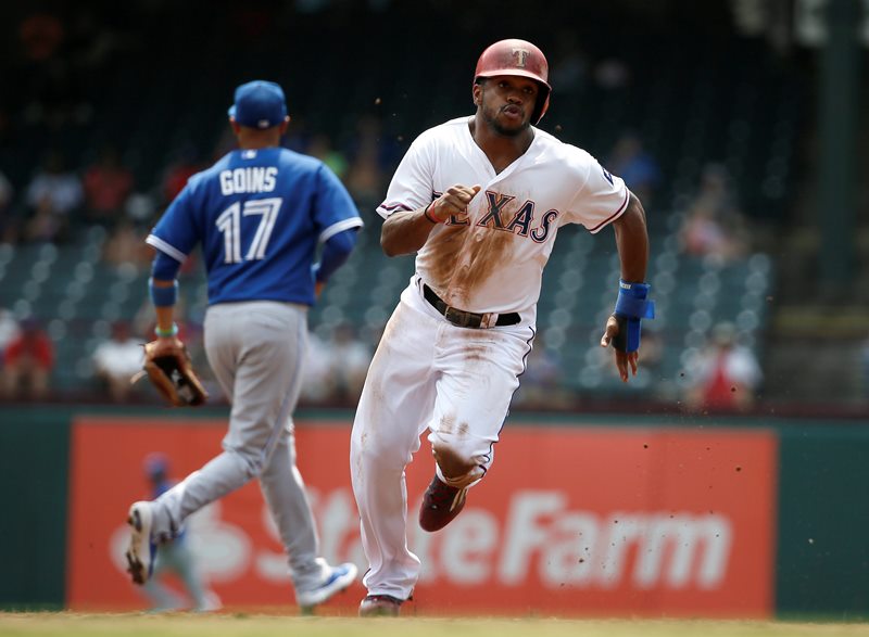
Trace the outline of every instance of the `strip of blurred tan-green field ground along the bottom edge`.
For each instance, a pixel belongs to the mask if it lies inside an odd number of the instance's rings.
[[[0,636],[41,637],[869,637],[869,624],[707,620],[299,617],[0,613]]]

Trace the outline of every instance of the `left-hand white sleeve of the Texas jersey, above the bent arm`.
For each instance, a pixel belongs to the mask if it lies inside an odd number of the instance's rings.
[[[433,198],[434,149],[431,135],[423,133],[411,144],[387,190],[387,198],[377,214],[385,219],[400,211],[415,211],[431,203]]]

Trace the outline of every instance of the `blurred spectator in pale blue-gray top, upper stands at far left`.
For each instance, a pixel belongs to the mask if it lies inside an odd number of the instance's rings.
[[[27,187],[30,217],[25,228],[28,241],[62,241],[71,217],[81,206],[84,191],[78,176],[66,169],[60,151],[46,155],[42,168]]]

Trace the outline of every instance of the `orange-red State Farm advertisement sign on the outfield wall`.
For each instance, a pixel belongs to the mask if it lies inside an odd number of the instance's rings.
[[[298,422],[299,468],[330,562],[367,568],[350,487],[350,422]],[[146,608],[124,573],[127,508],[148,497],[142,460],[181,479],[221,450],[223,421],[81,418],[74,425],[68,604]],[[433,460],[407,468],[410,545],[424,570],[407,611],[589,616],[770,616],[778,450],[736,429],[504,429],[495,462],[443,531],[419,530]],[[228,609],[290,607],[287,560],[251,483],[188,521]],[[324,612],[352,614],[356,584]]]

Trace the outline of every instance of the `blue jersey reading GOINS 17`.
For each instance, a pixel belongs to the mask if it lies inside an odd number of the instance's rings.
[[[209,304],[313,305],[317,243],[362,225],[323,162],[284,148],[237,150],[190,178],[147,242],[179,263],[201,242]]]

